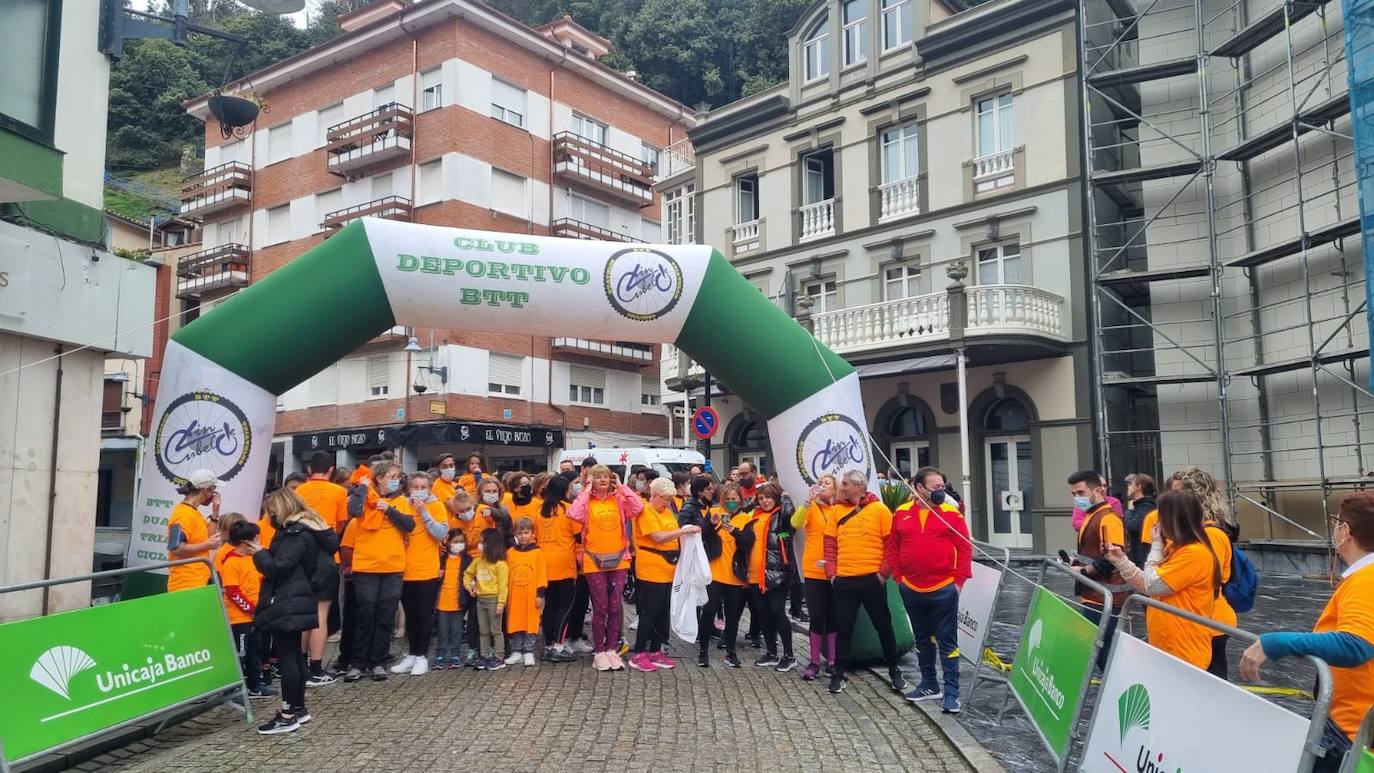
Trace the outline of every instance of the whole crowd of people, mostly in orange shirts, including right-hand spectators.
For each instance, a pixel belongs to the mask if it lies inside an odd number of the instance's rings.
[[[791,637],[797,621],[809,634],[802,678],[824,676],[838,693],[861,608],[892,688],[959,711],[959,592],[971,577],[973,542],[963,505],[938,470],[916,471],[896,512],[860,472],[822,476],[794,504],[749,463],[720,479],[694,467],[671,478],[639,468],[621,481],[591,457],[580,468],[563,461],[556,472],[485,470],[478,454],[462,470],[452,454],[408,474],[390,454],[335,470],[331,454],[317,453],[306,474],[267,497],[257,523],[238,514],[221,518],[221,482],[203,471],[191,475],[169,520],[169,555],[213,553],[250,695],[278,695],[268,682],[279,674],[283,707],[260,732],[308,722],[305,687],[337,680],[583,658],[599,671],[673,669],[669,605],[686,537],[699,538],[710,562],[698,610],[698,666],[712,667],[713,643],[724,651],[720,665],[742,666],[738,640],[747,608],[743,641],[761,649],[754,666],[780,673],[800,666]],[[1092,581],[1077,589],[1085,616],[1101,619],[1105,589],[1114,610],[1139,593],[1237,625],[1231,601],[1248,604],[1253,586],[1232,577],[1246,562],[1210,475],[1180,470],[1162,493],[1151,476],[1131,475],[1124,504],[1095,471],[1076,472],[1068,483],[1077,551],[1065,557]],[[217,531],[201,508],[210,509]],[[1256,680],[1267,659],[1311,654],[1330,663],[1329,744],[1340,750],[1374,704],[1374,493],[1348,496],[1333,526],[1348,568],[1315,632],[1265,634],[1239,666]],[[914,687],[897,662],[888,579],[896,581],[915,633]],[[203,564],[184,564],[172,568],[169,589],[207,581]],[[632,641],[624,638],[625,600],[635,610]],[[398,608],[407,649],[396,659]],[[1117,619],[1107,621],[1107,645]],[[1153,607],[1145,619],[1153,645],[1228,677],[1224,633]],[[326,637],[335,632],[339,656],[330,670]],[[1103,647],[1099,667],[1107,652]]]

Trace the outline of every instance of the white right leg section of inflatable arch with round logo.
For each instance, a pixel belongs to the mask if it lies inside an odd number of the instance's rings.
[[[849,373],[771,419],[768,437],[782,489],[802,501],[822,474],[838,478],[857,470],[878,493],[864,426],[859,373]]]

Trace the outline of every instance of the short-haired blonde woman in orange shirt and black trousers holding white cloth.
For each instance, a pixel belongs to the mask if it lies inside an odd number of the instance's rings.
[[[635,518],[635,607],[639,629],[629,667],[636,671],[673,669],[677,663],[664,654],[668,644],[668,607],[672,601],[673,571],[682,555],[677,538],[699,534],[698,526],[677,526],[673,494],[677,489],[666,478],[649,483],[649,501]]]

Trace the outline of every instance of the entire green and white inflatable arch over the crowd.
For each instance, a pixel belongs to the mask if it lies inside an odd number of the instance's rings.
[[[129,566],[165,560],[176,487],[207,468],[256,516],[279,394],[393,325],[672,342],[767,416],[783,487],[872,464],[859,378],[719,251],[363,220],[168,345]]]

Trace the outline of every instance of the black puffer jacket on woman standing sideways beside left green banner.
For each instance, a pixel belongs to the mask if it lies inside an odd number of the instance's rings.
[[[316,627],[319,611],[311,575],[319,566],[320,552],[333,553],[338,544],[334,531],[316,531],[295,522],[276,533],[269,549],[253,553],[253,566],[262,573],[253,625],[272,632]]]

